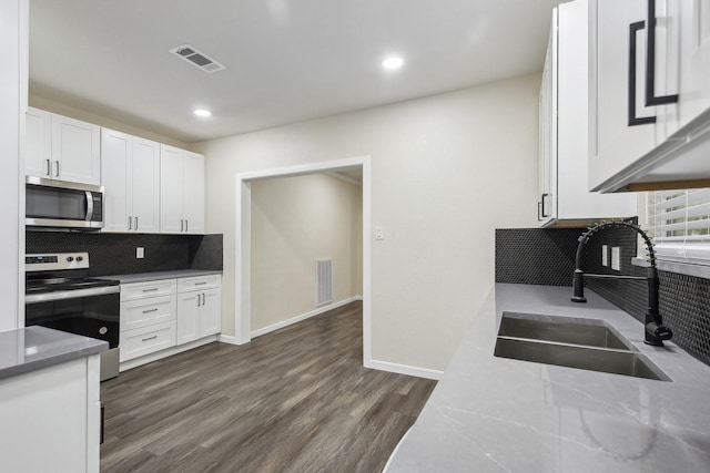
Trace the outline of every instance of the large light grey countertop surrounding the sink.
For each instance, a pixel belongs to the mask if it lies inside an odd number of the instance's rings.
[[[710,367],[643,345],[642,323],[591,290],[570,294],[496,285],[387,473],[709,472]],[[672,381],[494,357],[503,311],[604,319]]]

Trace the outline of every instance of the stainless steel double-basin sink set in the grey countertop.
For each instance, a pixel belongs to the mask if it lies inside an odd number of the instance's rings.
[[[604,320],[504,312],[494,356],[671,381]]]

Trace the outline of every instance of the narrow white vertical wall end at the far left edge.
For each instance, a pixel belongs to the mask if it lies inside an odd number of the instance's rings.
[[[21,218],[24,216],[24,186],[20,173],[22,163],[21,143],[24,126],[20,116],[27,107],[27,38],[28,3],[24,0],[0,2],[0,44],[3,60],[0,68],[0,331],[20,327],[22,309],[20,296],[24,285],[20,284],[20,246],[24,239],[20,235]]]

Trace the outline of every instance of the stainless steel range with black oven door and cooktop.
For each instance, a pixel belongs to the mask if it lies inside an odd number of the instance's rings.
[[[43,326],[109,342],[101,353],[101,380],[119,374],[118,280],[87,277],[88,253],[27,255],[26,326]]]

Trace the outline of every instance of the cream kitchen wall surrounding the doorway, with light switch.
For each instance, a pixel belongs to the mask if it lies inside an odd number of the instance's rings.
[[[536,226],[539,74],[197,144],[224,234],[234,333],[235,175],[372,156],[373,360],[443,370],[494,284],[495,228]]]

